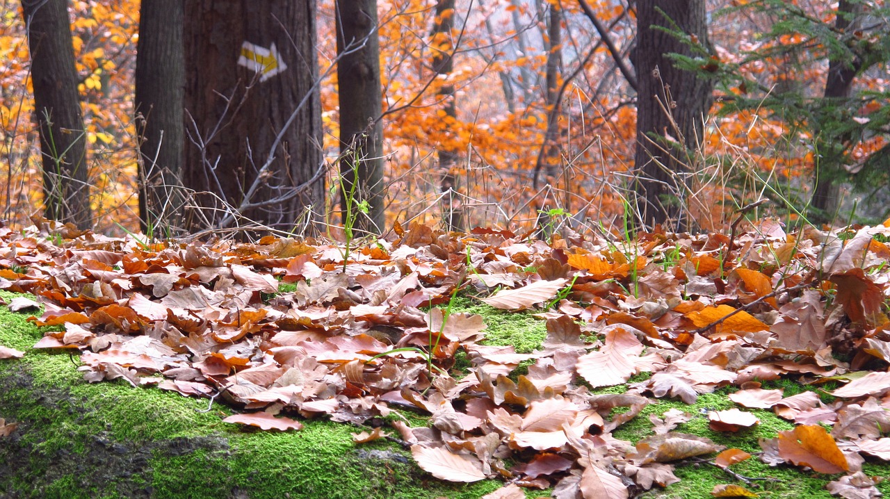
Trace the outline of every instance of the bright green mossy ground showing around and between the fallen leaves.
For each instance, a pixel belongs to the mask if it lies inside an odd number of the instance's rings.
[[[12,294],[0,292],[9,300]],[[452,311],[479,313],[486,342],[534,350],[546,337],[544,321],[530,313],[495,310],[458,298]],[[500,487],[486,480],[469,486],[451,485],[417,469],[408,453],[387,442],[355,446],[356,429],[326,420],[306,421],[303,431],[244,431],[222,423],[229,409],[206,399],[183,398],[157,389],[134,389],[124,382],[90,384],[77,372],[77,357],[30,350],[43,333],[25,318],[0,308],[0,344],[27,351],[25,358],[0,360],[0,417],[20,423],[0,439],[0,497],[170,497],[170,498],[478,498]],[[645,374],[639,376],[644,379]],[[639,381],[638,379],[632,379]],[[775,388],[775,387],[771,387]],[[806,390],[784,382],[786,395]],[[599,390],[622,392],[619,385]],[[752,410],[755,428],[738,433],[711,431],[708,410],[732,408],[731,389],[701,395],[687,406],[659,399],[623,425],[615,436],[636,441],[651,435],[650,414],[679,408],[695,417],[677,428],[748,452],[759,450],[758,438],[773,438],[790,423],[769,411]],[[408,414],[406,414],[408,415]],[[426,418],[410,414],[411,424]],[[732,470],[757,481],[750,487],[761,497],[796,499],[830,497],[830,479],[795,467],[770,467],[756,458]],[[890,477],[886,463],[866,463],[870,476]],[[677,466],[681,481],[653,489],[649,499],[708,497],[717,484],[738,483],[707,463]],[[739,484],[742,485],[742,484]],[[878,488],[890,494],[890,483]],[[527,491],[529,497],[548,491]]]

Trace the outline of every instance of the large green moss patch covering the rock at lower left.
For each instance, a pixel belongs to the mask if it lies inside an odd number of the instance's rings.
[[[0,496],[471,499],[503,485],[442,482],[400,447],[357,447],[355,428],[328,420],[243,431],[221,422],[231,414],[224,406],[198,412],[206,399],[87,383],[77,357],[31,349],[43,332],[28,315],[0,309],[0,344],[26,351],[0,361],[0,416],[20,423],[15,439],[0,440],[0,462],[20,463],[0,467]],[[412,425],[428,421],[405,415]]]

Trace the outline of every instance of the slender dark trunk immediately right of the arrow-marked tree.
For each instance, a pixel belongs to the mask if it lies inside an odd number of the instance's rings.
[[[376,0],[338,0],[336,48],[340,99],[341,210],[347,202],[368,202],[368,214],[354,213],[355,227],[373,234],[384,229],[383,112]],[[356,163],[355,159],[359,161]],[[358,173],[358,175],[356,175]],[[358,177],[356,179],[356,176]],[[352,196],[352,201],[347,197]],[[344,223],[346,212],[343,212]]]

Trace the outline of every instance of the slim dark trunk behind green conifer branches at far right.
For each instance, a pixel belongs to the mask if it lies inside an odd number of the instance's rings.
[[[841,36],[849,36],[847,33],[851,24],[850,17],[856,13],[858,2],[852,0],[840,0],[837,4],[837,20],[835,31]],[[836,104],[850,97],[853,91],[853,81],[862,69],[862,59],[854,57],[835,58],[829,60],[828,79],[825,81],[825,100],[829,105]],[[816,133],[817,137],[821,133]],[[813,200],[811,206],[815,209],[813,221],[830,222],[840,208],[840,184],[842,179],[837,173],[842,173],[844,168],[844,149],[846,142],[850,141],[849,133],[840,137],[834,137],[829,141],[820,140],[819,157],[816,158],[815,187],[813,188]]]

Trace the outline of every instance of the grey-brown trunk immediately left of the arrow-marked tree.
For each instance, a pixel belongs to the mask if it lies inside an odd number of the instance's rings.
[[[136,131],[140,138],[139,219],[142,232],[182,229],[183,0],[142,2],[136,52]]]

